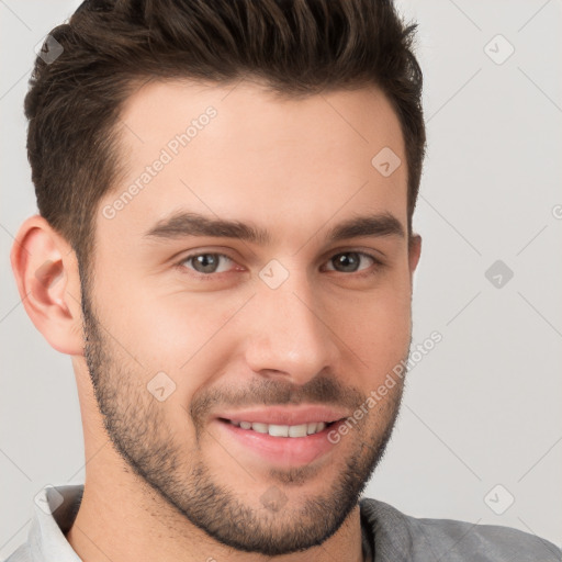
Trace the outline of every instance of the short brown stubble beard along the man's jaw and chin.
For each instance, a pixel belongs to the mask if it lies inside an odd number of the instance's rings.
[[[161,404],[144,382],[138,382],[144,381],[145,373],[104,337],[85,288],[82,295],[85,355],[98,407],[116,452],[142,486],[148,485],[168,508],[217,542],[239,551],[267,557],[288,554],[322,544],[341,527],[384,454],[402,402],[401,384],[341,439],[340,445],[353,439],[355,446],[326,491],[313,497],[291,494],[290,488],[314,479],[317,469],[313,465],[270,469],[271,482],[262,486],[258,483],[256,502],[248,505],[235,488],[217,482],[205,464],[202,417],[191,417],[200,438],[187,454],[187,445],[193,443],[175,440],[175,428],[169,426]],[[280,501],[260,503],[270,491]]]

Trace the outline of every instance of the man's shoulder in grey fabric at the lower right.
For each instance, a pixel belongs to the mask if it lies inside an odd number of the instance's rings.
[[[535,535],[498,525],[405,515],[384,502],[363,498],[361,515],[372,526],[376,562],[560,562],[562,551]]]

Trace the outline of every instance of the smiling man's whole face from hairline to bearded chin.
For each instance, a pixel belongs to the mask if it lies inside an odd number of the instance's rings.
[[[331,536],[383,453],[402,380],[366,404],[407,358],[419,248],[378,90],[232,88],[153,82],[127,101],[86,349],[108,434],[142,481],[216,540],[273,555]],[[391,175],[371,162],[385,147],[402,160]]]

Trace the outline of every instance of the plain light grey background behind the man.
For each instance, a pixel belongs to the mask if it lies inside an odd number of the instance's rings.
[[[1,558],[25,540],[44,485],[85,477],[70,359],[33,327],[8,258],[35,212],[22,111],[33,49],[78,3],[0,0]],[[367,495],[560,544],[562,3],[400,5],[420,26],[429,142],[414,220],[424,237],[414,341],[434,330],[443,339],[409,373]],[[514,273],[501,288],[485,277],[498,259]]]

